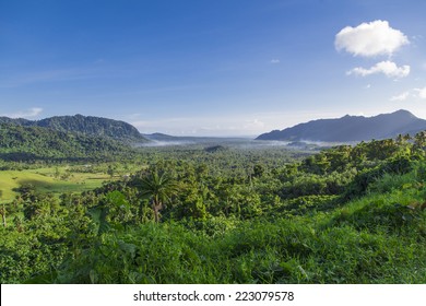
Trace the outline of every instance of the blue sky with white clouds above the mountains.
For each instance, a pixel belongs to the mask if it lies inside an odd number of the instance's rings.
[[[0,0],[0,116],[258,136],[426,118],[426,1]]]

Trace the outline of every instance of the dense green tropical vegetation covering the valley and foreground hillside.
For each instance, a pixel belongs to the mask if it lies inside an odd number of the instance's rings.
[[[141,148],[98,161],[131,175],[93,190],[21,185],[0,210],[0,281],[425,283],[425,148],[424,132],[317,154]]]

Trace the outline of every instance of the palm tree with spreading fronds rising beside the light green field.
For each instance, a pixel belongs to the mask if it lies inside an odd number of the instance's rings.
[[[171,201],[171,196],[176,192],[177,185],[175,180],[165,173],[153,170],[141,179],[141,195],[151,198],[155,222],[159,222],[159,211]]]

